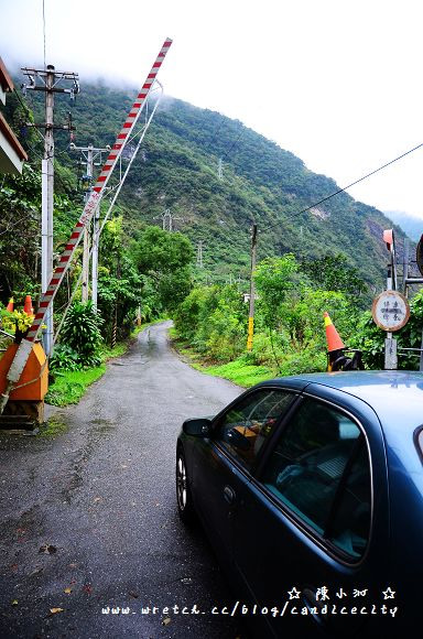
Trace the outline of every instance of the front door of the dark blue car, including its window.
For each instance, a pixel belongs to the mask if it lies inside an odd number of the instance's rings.
[[[213,424],[213,434],[195,442],[193,485],[196,508],[224,561],[232,557],[232,516],[265,441],[296,393],[261,387],[238,398]]]

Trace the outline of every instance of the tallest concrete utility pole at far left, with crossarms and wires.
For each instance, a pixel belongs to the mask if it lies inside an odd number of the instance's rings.
[[[42,160],[42,220],[41,220],[41,290],[45,293],[48,282],[53,275],[53,193],[54,193],[54,129],[72,131],[70,120],[67,124],[54,124],[54,94],[69,94],[70,99],[79,93],[78,74],[68,72],[56,72],[53,65],[47,65],[45,69],[22,68],[23,75],[28,76],[29,84],[23,84],[22,89],[45,93],[45,122],[30,126],[43,128],[44,133],[44,158]],[[72,88],[61,88],[61,80],[73,80]],[[37,80],[41,84],[37,84]],[[53,349],[53,304],[50,305],[45,316],[47,326],[43,336],[44,350],[47,356]]]

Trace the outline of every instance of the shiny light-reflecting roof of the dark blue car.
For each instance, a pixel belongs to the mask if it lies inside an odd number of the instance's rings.
[[[304,391],[321,385],[349,393],[378,414],[387,437],[413,432],[423,424],[423,372],[408,370],[355,370],[314,372],[271,380],[276,386]],[[269,383],[269,382],[267,382]],[[311,390],[311,389],[310,389]],[[395,438],[395,437],[394,437]]]

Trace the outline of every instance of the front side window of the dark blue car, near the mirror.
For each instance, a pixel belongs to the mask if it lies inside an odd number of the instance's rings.
[[[241,399],[219,420],[214,440],[250,469],[265,438],[296,396],[260,389]]]

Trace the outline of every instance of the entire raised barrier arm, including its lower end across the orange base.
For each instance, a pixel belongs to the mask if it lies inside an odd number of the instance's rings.
[[[138,118],[141,113],[141,110],[145,104],[147,97],[150,93],[150,89],[155,80],[155,76],[159,73],[160,67],[166,56],[167,51],[170,50],[172,44],[172,40],[169,37],[164,41],[162,48],[159,52],[153,66],[148,74],[144,84],[140,93],[138,94],[135,101],[132,105],[131,110],[129,111],[126,121],[123,122],[123,127],[118,134],[116,142],[101,169],[101,173],[98,176],[96,184],[93,188],[91,195],[86,203],[84,210],[76,223],[74,230],[70,235],[69,241],[67,242],[65,250],[63,251],[61,259],[58,261],[58,266],[55,268],[52,279],[50,280],[48,286],[46,288],[45,292],[41,295],[39,310],[35,314],[34,322],[30,327],[26,338],[22,339],[17,354],[13,358],[12,364],[10,365],[8,375],[7,375],[7,387],[4,392],[0,396],[0,414],[3,412],[6,404],[8,403],[9,396],[13,390],[13,386],[17,383],[21,373],[25,367],[28,358],[30,357],[32,345],[35,342],[41,325],[44,322],[45,315],[50,307],[50,304],[54,300],[55,294],[57,293],[58,286],[62,283],[62,280],[69,267],[70,260],[75,253],[75,250],[79,243],[79,240],[83,236],[83,231],[86,225],[93,218],[99,203],[101,196],[105,191],[105,186],[108,183],[110,175],[124,149],[124,145],[130,138],[131,131],[135,126]]]

